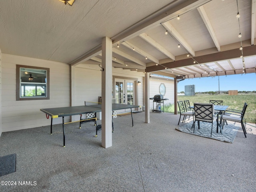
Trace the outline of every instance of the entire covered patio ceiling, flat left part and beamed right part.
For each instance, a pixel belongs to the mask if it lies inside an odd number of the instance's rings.
[[[256,0],[8,0],[0,10],[2,53],[99,65],[109,37],[116,68],[178,79],[256,72]]]

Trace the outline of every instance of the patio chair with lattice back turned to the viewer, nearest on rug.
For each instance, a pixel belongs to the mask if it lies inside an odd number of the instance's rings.
[[[212,123],[217,119],[218,113],[214,113],[214,104],[212,103],[194,103],[194,114],[195,119],[193,122],[192,127],[194,127],[195,133],[195,124],[196,121],[198,122],[198,129],[200,129],[200,121]],[[192,128],[191,127],[191,128]],[[212,130],[211,130],[211,137],[212,137]]]

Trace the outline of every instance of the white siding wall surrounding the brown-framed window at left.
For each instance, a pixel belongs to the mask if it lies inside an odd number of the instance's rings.
[[[16,64],[50,68],[50,99],[16,101]],[[2,131],[50,125],[42,108],[70,106],[70,65],[2,54]],[[61,118],[53,124],[62,123]]]

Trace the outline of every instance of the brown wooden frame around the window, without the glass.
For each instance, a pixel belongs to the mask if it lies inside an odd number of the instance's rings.
[[[20,68],[46,70],[46,97],[20,97]],[[35,83],[36,84],[36,83]],[[34,67],[28,65],[16,65],[16,101],[45,100],[50,99],[50,68]]]

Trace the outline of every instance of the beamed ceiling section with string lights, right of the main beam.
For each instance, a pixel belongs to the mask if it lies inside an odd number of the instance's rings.
[[[114,40],[113,66],[177,79],[256,73],[255,9],[255,0],[190,4],[132,38]]]

